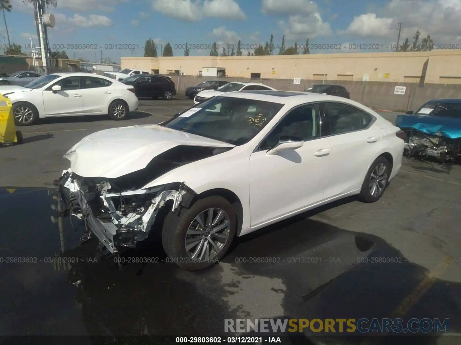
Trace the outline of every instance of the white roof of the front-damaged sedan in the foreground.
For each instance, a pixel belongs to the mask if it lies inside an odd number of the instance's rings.
[[[308,102],[325,102],[334,101],[348,103],[351,105],[359,104],[348,98],[324,95],[314,92],[297,92],[297,91],[236,91],[228,92],[219,95],[219,97],[235,97],[235,98],[248,98],[265,102],[289,104],[295,106],[297,104],[303,104]],[[363,104],[360,104],[362,107]]]

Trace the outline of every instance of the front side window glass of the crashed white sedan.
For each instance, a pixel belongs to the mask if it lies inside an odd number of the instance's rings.
[[[280,137],[290,136],[307,141],[320,137],[319,104],[305,104],[291,109],[262,141],[259,150],[274,147]]]

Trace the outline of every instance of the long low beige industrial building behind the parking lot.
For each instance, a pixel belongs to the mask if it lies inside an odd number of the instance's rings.
[[[122,57],[121,68],[193,76],[202,75],[204,69],[217,69],[222,76],[245,79],[461,84],[461,50],[241,57]]]

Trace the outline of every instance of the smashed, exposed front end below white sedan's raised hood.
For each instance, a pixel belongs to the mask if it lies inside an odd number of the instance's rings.
[[[118,178],[85,178],[68,169],[55,183],[68,213],[85,222],[82,240],[94,234],[110,253],[116,253],[144,241],[164,207],[168,212],[180,205],[189,207],[196,196],[182,182],[143,186],[177,167],[227,150],[178,145],[154,157],[144,169]],[[168,201],[171,206],[165,206]]]

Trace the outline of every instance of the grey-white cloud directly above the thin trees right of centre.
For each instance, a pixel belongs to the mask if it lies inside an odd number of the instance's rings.
[[[306,40],[331,35],[330,23],[325,23],[319,12],[306,16],[290,16],[288,23],[280,21],[278,24],[285,35],[285,40]]]

